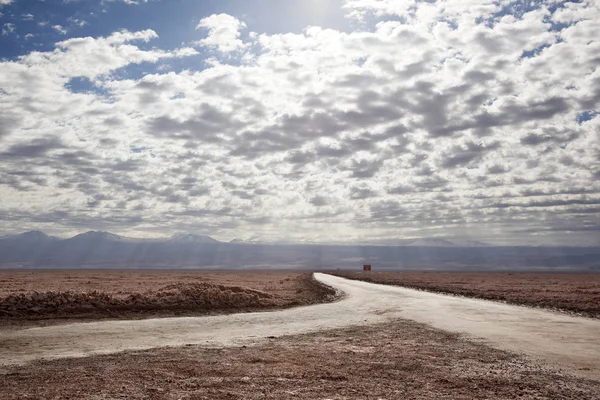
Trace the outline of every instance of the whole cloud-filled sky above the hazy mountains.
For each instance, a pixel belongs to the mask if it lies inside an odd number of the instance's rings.
[[[0,0],[0,231],[600,244],[600,2]]]

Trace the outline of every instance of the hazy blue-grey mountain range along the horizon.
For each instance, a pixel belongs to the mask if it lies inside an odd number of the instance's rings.
[[[396,245],[220,242],[177,234],[136,239],[90,231],[68,239],[32,231],[0,237],[0,268],[599,270],[600,247],[503,247],[440,238]]]

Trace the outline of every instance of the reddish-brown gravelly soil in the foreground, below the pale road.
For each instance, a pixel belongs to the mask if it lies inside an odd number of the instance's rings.
[[[600,399],[600,383],[410,321],[43,361],[0,374],[2,399]]]

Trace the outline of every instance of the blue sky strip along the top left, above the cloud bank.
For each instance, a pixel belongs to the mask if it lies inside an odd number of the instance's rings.
[[[350,32],[351,22],[341,8],[343,0],[179,0],[127,4],[123,1],[16,0],[2,8],[0,58],[14,59],[30,51],[51,51],[56,42],[71,37],[109,36],[115,31],[152,29],[158,38],[152,46],[170,49],[200,40],[200,19],[226,13],[247,24],[252,31],[275,34],[301,32],[321,26]]]

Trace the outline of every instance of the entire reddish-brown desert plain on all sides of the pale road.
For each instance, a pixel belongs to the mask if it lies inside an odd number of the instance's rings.
[[[600,310],[600,276],[594,274],[334,274],[589,320]],[[309,272],[2,271],[0,350],[29,348],[3,332],[18,337],[92,321],[226,318],[214,316],[340,299],[343,294]],[[600,377],[409,319],[258,339],[4,363],[0,399],[600,398]]]

